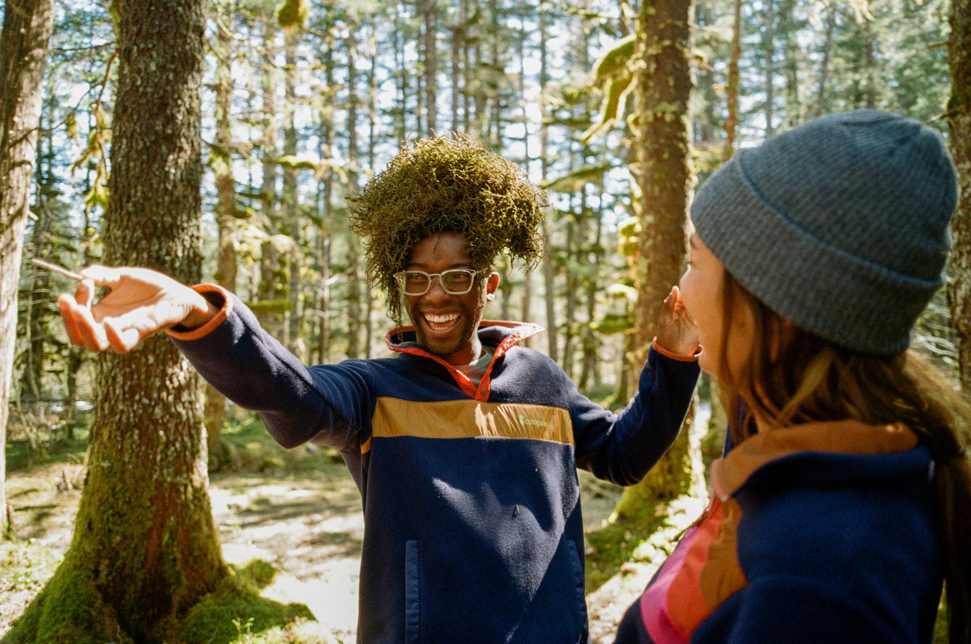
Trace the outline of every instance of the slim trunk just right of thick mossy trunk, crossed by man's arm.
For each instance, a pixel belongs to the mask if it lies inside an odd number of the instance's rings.
[[[232,138],[232,59],[233,59],[233,0],[219,2],[216,7],[216,147],[223,155],[223,163],[216,166],[216,223],[218,225],[218,265],[216,281],[222,288],[236,290],[236,249],[233,233],[236,228],[236,182],[233,180]],[[219,433],[225,415],[226,398],[215,387],[206,383],[206,444],[210,457],[216,457]],[[211,463],[218,459],[211,458]]]

